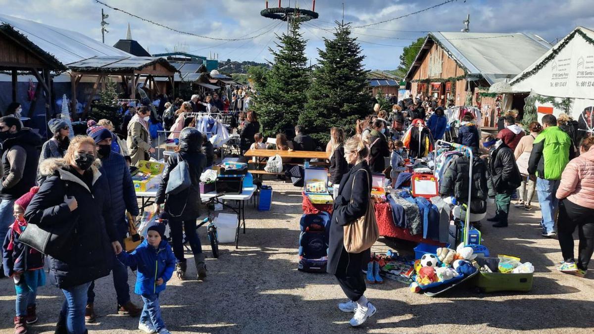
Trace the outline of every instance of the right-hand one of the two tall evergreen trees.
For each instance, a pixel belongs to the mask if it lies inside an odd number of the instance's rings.
[[[327,141],[330,127],[341,127],[352,133],[357,119],[372,111],[368,93],[364,55],[356,38],[351,37],[349,24],[337,22],[334,39],[324,38],[325,50],[318,49],[318,68],[308,93],[299,124],[321,141]]]

